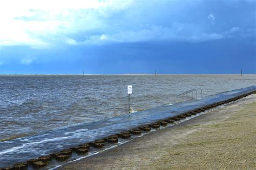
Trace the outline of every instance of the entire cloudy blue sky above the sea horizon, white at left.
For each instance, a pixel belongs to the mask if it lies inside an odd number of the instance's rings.
[[[0,22],[0,74],[256,74],[256,0],[8,0]]]

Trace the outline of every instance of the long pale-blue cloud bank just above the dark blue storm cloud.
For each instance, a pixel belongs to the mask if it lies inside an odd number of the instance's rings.
[[[193,30],[193,33],[191,33],[191,30]],[[231,30],[235,31],[238,29],[235,27]],[[203,30],[200,30],[195,24],[173,23],[172,26],[169,27],[152,25],[148,29],[138,31],[119,31],[114,34],[92,35],[86,38],[84,41],[75,41],[73,39],[69,39],[69,44],[102,45],[107,42],[140,42],[157,40],[203,42],[228,38],[231,30],[222,33],[206,33]]]

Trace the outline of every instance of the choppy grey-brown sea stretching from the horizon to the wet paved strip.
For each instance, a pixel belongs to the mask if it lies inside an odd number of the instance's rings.
[[[256,75],[0,76],[0,140],[29,136],[126,114],[127,85],[134,111],[255,86]]]

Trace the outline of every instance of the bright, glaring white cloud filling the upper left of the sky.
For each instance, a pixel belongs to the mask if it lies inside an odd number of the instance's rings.
[[[131,4],[132,1],[119,0],[1,1],[0,45],[42,48],[63,43],[68,34],[103,27],[99,15],[107,17],[110,11],[123,10]],[[74,45],[75,41],[66,42]]]

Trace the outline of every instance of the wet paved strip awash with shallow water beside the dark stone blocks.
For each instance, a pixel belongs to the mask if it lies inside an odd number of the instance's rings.
[[[251,93],[255,90],[256,86],[227,91],[204,97],[201,100],[165,105],[163,107],[134,112],[131,115],[113,117],[93,123],[84,123],[69,128],[49,131],[31,137],[4,141],[0,143],[1,166],[10,166],[15,162],[38,158],[41,155],[48,155],[52,152],[59,152],[63,149],[150,124],[160,119],[176,116],[193,109],[204,107],[205,105]]]

